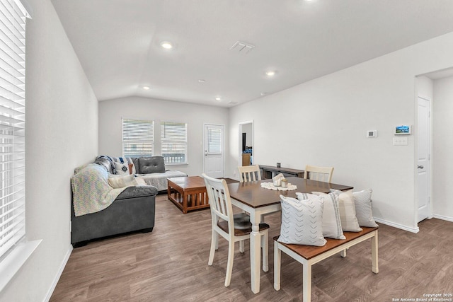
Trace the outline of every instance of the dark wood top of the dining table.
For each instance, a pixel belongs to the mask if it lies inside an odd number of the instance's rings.
[[[272,180],[258,180],[254,182],[234,182],[228,184],[228,190],[231,198],[247,204],[249,207],[265,207],[270,204],[280,203],[280,194],[287,197],[297,198],[296,192],[311,193],[324,192],[328,193],[331,189],[350,190],[353,187],[348,185],[337,185],[328,182],[319,182],[316,180],[305,180],[304,178],[286,178],[292,185],[297,185],[296,190],[270,190],[261,187],[261,182],[272,182]]]

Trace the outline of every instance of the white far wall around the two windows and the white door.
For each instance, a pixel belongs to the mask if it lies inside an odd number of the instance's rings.
[[[160,123],[185,122],[188,124],[188,165],[168,165],[188,175],[200,175],[203,171],[203,124],[225,125],[225,148],[228,149],[229,113],[226,108],[189,103],[155,100],[151,98],[119,98],[99,103],[99,153],[110,156],[122,155],[122,118],[154,120],[156,155],[160,154]],[[237,151],[236,151],[237,153]],[[237,156],[237,155],[236,155]],[[226,158],[226,166],[228,158]]]

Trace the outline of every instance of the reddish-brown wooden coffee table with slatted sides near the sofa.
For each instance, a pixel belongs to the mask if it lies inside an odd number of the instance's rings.
[[[205,180],[200,176],[168,178],[168,199],[187,214],[196,209],[207,209],[208,202]]]

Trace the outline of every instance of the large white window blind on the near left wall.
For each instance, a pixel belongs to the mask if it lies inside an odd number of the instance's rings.
[[[0,257],[25,236],[25,18],[0,1]]]

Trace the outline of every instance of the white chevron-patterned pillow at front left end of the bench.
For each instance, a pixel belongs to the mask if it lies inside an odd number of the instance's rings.
[[[300,201],[280,195],[282,199],[282,226],[278,241],[300,245],[326,245],[323,237],[323,199]]]

